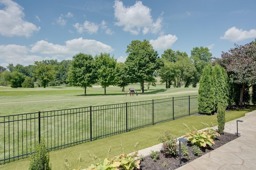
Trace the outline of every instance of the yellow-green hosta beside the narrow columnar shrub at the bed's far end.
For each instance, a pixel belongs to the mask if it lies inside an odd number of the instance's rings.
[[[188,126],[184,123],[183,125],[188,128]],[[198,147],[206,147],[206,145],[212,146],[212,144],[214,144],[211,134],[205,130],[198,131],[196,128],[194,128],[194,131],[186,133],[185,137],[191,142],[192,145],[197,145]]]

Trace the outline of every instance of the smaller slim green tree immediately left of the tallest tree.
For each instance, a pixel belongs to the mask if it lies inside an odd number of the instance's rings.
[[[127,70],[128,66],[126,64],[116,63],[115,82],[118,87],[122,88],[122,92],[124,92],[124,87],[130,83],[130,76],[127,74]]]

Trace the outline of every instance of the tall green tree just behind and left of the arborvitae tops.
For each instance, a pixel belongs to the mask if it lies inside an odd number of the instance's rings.
[[[196,83],[199,82],[204,67],[207,63],[211,62],[211,57],[212,53],[210,53],[208,47],[194,47],[191,50],[190,58],[197,70],[196,74],[194,74],[193,87],[196,87]]]

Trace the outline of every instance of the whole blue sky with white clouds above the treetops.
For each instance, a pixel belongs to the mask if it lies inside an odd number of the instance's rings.
[[[256,38],[255,0],[0,0],[0,65],[72,60],[77,53],[126,59],[133,40],[159,56],[208,47],[221,57]]]

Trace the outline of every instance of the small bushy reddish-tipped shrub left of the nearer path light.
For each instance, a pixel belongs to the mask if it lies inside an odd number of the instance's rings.
[[[169,131],[165,131],[163,135],[158,137],[158,140],[163,143],[161,152],[166,157],[175,156],[178,152],[177,139],[170,134]]]

